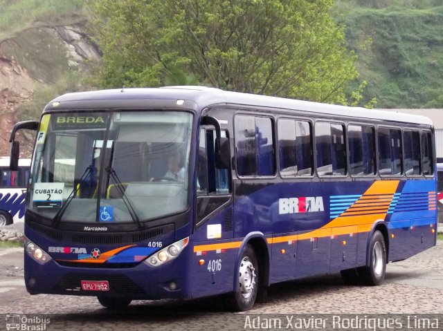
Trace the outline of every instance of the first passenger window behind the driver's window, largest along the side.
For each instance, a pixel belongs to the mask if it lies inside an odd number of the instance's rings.
[[[269,117],[235,117],[237,173],[239,176],[273,176],[275,155]]]

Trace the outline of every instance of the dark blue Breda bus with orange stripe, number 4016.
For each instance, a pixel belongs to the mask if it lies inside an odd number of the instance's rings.
[[[30,294],[226,294],[386,263],[436,243],[431,120],[198,86],[69,93],[39,122],[26,200]],[[177,176],[177,174],[179,176]]]

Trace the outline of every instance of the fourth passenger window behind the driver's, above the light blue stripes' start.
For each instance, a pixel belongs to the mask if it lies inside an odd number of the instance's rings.
[[[349,140],[349,163],[351,175],[375,174],[374,128],[350,125],[347,127]]]

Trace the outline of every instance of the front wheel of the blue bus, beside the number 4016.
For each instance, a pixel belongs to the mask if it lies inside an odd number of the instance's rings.
[[[231,294],[230,306],[236,312],[250,310],[257,299],[259,287],[258,263],[254,249],[251,245],[246,245],[238,269],[238,289]]]

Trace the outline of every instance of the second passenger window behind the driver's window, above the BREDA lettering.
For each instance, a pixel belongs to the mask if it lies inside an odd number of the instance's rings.
[[[280,120],[278,122],[278,144],[282,176],[310,176],[312,174],[309,122]]]

